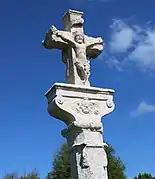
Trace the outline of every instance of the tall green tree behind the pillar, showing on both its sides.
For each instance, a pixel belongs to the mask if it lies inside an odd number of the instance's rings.
[[[121,159],[115,155],[115,150],[112,146],[109,145],[109,147],[106,147],[106,152],[109,162],[109,179],[126,179],[124,174],[125,166]],[[53,161],[53,169],[48,173],[47,179],[71,179],[69,151],[66,143],[56,153]]]

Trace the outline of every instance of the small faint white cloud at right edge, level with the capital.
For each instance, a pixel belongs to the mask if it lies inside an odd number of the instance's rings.
[[[142,101],[136,110],[131,112],[132,117],[138,117],[145,113],[155,112],[155,106]]]

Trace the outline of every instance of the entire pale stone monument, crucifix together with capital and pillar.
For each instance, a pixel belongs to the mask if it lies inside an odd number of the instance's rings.
[[[114,110],[112,89],[91,87],[88,58],[103,50],[103,40],[84,35],[83,13],[69,10],[63,17],[65,31],[54,26],[43,41],[47,49],[62,50],[68,83],[55,83],[45,94],[48,113],[66,129],[72,179],[108,179],[106,144],[101,118]]]

